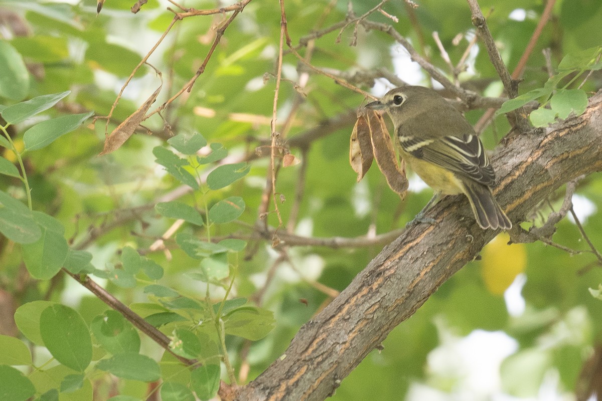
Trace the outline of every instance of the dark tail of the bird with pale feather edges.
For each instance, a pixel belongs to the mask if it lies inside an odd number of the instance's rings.
[[[512,222],[506,213],[501,210],[497,204],[491,189],[479,183],[464,183],[464,194],[470,201],[470,207],[473,209],[474,218],[482,228],[501,228],[510,230]]]

